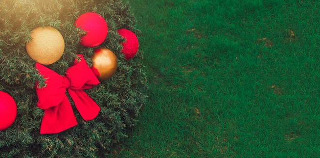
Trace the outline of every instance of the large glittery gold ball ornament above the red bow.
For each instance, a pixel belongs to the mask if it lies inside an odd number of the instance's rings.
[[[30,34],[32,39],[26,43],[31,59],[44,65],[58,61],[64,51],[64,40],[58,30],[52,27],[38,27]]]

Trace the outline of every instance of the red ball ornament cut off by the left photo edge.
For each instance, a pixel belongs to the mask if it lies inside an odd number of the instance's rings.
[[[8,128],[17,116],[14,99],[6,92],[0,91],[0,130]]]

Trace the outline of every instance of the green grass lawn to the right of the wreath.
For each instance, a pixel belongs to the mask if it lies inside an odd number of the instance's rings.
[[[319,2],[130,4],[149,98],[113,156],[320,155]]]

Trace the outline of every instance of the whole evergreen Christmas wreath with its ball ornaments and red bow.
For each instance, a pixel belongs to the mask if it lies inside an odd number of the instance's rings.
[[[147,88],[119,0],[0,2],[0,157],[96,157],[127,137]]]

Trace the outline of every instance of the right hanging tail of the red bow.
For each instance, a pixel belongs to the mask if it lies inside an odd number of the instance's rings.
[[[98,116],[100,107],[83,90],[68,89],[68,93],[75,102],[77,110],[85,121],[93,120]]]

